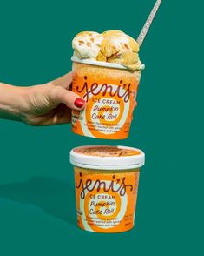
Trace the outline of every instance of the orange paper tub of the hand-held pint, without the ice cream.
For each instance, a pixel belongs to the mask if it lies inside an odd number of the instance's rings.
[[[94,138],[128,138],[144,66],[129,71],[121,64],[77,57],[72,61],[72,91],[87,103],[83,111],[72,111],[72,131]]]

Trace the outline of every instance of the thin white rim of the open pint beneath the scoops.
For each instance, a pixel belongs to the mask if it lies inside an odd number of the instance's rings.
[[[97,61],[97,60],[90,60],[87,58],[78,58],[75,56],[71,57],[71,60],[73,62],[81,63],[81,64],[90,64],[90,65],[95,65],[95,66],[102,66],[106,68],[112,68],[112,69],[120,69],[120,70],[129,70],[127,67],[123,66],[122,64],[116,64],[116,63],[109,63],[109,62],[103,62],[103,61]],[[145,64],[141,64],[140,68],[136,69],[136,71],[141,71],[144,70]]]

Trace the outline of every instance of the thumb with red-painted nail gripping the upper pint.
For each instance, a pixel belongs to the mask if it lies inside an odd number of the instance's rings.
[[[56,86],[50,91],[50,101],[54,104],[66,104],[70,109],[81,111],[85,107],[85,100],[75,92]]]

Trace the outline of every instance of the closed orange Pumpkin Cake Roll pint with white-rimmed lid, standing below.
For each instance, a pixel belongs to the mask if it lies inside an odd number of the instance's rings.
[[[70,163],[78,226],[90,232],[132,229],[144,153],[127,146],[81,146],[70,152]]]

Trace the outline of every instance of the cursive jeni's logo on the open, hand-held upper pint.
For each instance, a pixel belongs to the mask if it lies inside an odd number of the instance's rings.
[[[111,84],[88,84],[88,78],[87,76],[84,76],[84,84],[81,86],[76,86],[77,92],[85,92],[83,95],[83,98],[86,100],[86,102],[89,101],[89,95],[98,95],[102,93],[102,96],[106,96],[109,94],[110,97],[117,96],[118,98],[123,98],[124,102],[128,102],[131,94],[133,95],[133,98],[135,97],[135,93],[133,91],[130,91],[131,84],[124,84],[121,80],[119,82],[120,85],[118,85],[115,89],[114,86]]]

